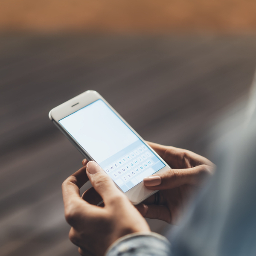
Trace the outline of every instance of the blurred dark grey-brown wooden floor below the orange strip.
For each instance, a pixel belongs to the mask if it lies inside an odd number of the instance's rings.
[[[255,66],[256,37],[1,36],[0,255],[79,255],[61,183],[82,157],[51,108],[97,90],[144,139],[207,155],[206,134]]]

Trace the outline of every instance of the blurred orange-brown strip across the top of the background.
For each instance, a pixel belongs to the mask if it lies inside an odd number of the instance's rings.
[[[0,31],[256,33],[255,0],[8,0]]]

